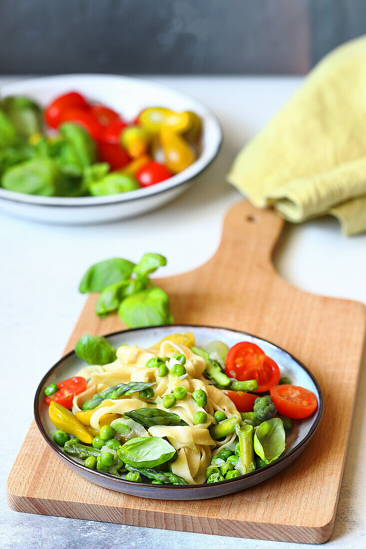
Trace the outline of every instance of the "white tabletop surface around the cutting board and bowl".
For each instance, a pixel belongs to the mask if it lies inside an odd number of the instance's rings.
[[[88,266],[108,257],[137,261],[146,251],[168,257],[160,274],[202,264],[215,251],[225,210],[240,199],[225,174],[241,146],[301,84],[298,77],[153,77],[201,99],[219,117],[224,143],[217,160],[180,198],[145,216],[106,225],[38,225],[0,214],[3,547],[127,547],[170,549],[306,547],[135,526],[43,517],[11,511],[5,483],[32,420],[37,384],[58,360],[85,296],[78,282]],[[0,78],[0,85],[13,78]],[[342,236],[331,217],[287,225],[275,266],[310,292],[366,302],[366,234]],[[365,547],[366,374],[361,374],[334,533],[329,546]],[[336,418],[335,418],[336,421]],[[326,489],[326,486],[325,486]],[[208,503],[209,504],[209,503]]]

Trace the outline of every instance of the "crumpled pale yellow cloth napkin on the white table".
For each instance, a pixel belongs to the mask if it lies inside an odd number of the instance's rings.
[[[228,180],[294,223],[331,214],[346,234],[366,231],[366,36],[320,61]]]

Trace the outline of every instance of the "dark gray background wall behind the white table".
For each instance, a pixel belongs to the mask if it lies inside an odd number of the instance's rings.
[[[0,0],[0,74],[302,74],[365,0]]]

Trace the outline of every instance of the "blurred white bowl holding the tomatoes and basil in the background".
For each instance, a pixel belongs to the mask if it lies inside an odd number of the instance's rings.
[[[0,187],[0,209],[34,221],[63,224],[100,223],[136,216],[159,208],[185,191],[193,178],[215,158],[221,144],[217,117],[197,99],[157,82],[113,75],[62,75],[15,81],[0,89],[0,97],[22,95],[45,107],[62,93],[77,91],[106,104],[125,120],[155,105],[176,111],[191,110],[203,122],[202,149],[184,171],[151,187],[101,197],[41,197]]]

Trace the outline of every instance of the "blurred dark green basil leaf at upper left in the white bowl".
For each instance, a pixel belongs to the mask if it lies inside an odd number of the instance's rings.
[[[23,137],[30,137],[42,131],[42,110],[27,97],[5,97],[2,108],[16,131]]]

